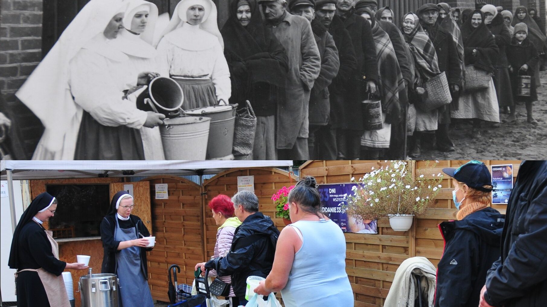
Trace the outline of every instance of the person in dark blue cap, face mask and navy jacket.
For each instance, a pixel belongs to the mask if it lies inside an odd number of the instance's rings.
[[[435,307],[478,306],[479,294],[492,263],[499,258],[504,215],[493,209],[492,175],[480,161],[444,168],[455,189],[456,221],[442,222],[445,242],[437,270]]]

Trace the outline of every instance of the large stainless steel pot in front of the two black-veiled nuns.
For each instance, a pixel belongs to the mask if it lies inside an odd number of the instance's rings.
[[[82,307],[118,307],[119,279],[116,274],[84,275],[78,281],[78,291]]]

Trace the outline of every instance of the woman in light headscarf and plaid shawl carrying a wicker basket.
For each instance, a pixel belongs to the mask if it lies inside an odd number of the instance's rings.
[[[441,72],[433,42],[431,42],[427,33],[423,31],[420,19],[416,14],[411,12],[403,17],[401,32],[404,34],[414,61],[415,81],[414,84],[409,85],[409,102],[414,104],[418,99],[424,99],[424,95],[427,95],[423,88],[425,82]],[[410,108],[415,108],[415,106],[412,105]],[[431,111],[422,111],[420,108],[415,109],[416,126],[409,149],[409,157],[412,158],[420,156],[422,134],[427,131],[434,132],[437,130],[439,115],[438,109]]]

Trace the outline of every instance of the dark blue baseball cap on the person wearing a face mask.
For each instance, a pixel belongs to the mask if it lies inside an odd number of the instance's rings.
[[[481,161],[472,160],[458,168],[443,168],[443,173],[476,190],[492,192],[491,188],[483,187],[484,185],[492,185],[492,174]]]

